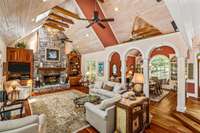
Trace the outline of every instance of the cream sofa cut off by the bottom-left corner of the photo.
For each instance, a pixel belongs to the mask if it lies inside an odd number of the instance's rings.
[[[46,116],[31,115],[15,120],[0,121],[0,133],[46,133]]]

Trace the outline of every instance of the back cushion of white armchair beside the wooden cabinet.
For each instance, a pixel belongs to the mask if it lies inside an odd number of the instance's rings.
[[[120,95],[105,99],[101,102],[101,104],[98,106],[98,108],[101,110],[105,110],[106,108],[115,105],[115,103],[118,102],[120,99],[121,99]]]

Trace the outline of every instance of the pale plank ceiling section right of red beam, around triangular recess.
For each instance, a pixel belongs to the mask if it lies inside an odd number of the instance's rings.
[[[132,38],[135,18],[140,17],[162,34],[174,32],[164,0],[105,0],[101,8],[106,17],[114,17],[110,26],[120,43]]]

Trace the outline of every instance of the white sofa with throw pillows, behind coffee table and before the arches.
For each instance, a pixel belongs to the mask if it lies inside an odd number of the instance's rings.
[[[105,85],[112,86],[113,91],[103,89]],[[102,80],[96,81],[95,84],[89,86],[89,93],[91,95],[98,95],[102,99],[114,97],[116,94],[122,94],[126,90],[126,87],[120,83]]]

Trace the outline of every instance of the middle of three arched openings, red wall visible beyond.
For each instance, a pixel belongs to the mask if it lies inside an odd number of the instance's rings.
[[[134,79],[137,76],[143,77],[143,58],[142,54],[137,49],[131,49],[126,53],[126,85],[129,89],[134,88]],[[143,82],[143,81],[141,81]],[[143,83],[141,83],[143,84]]]

